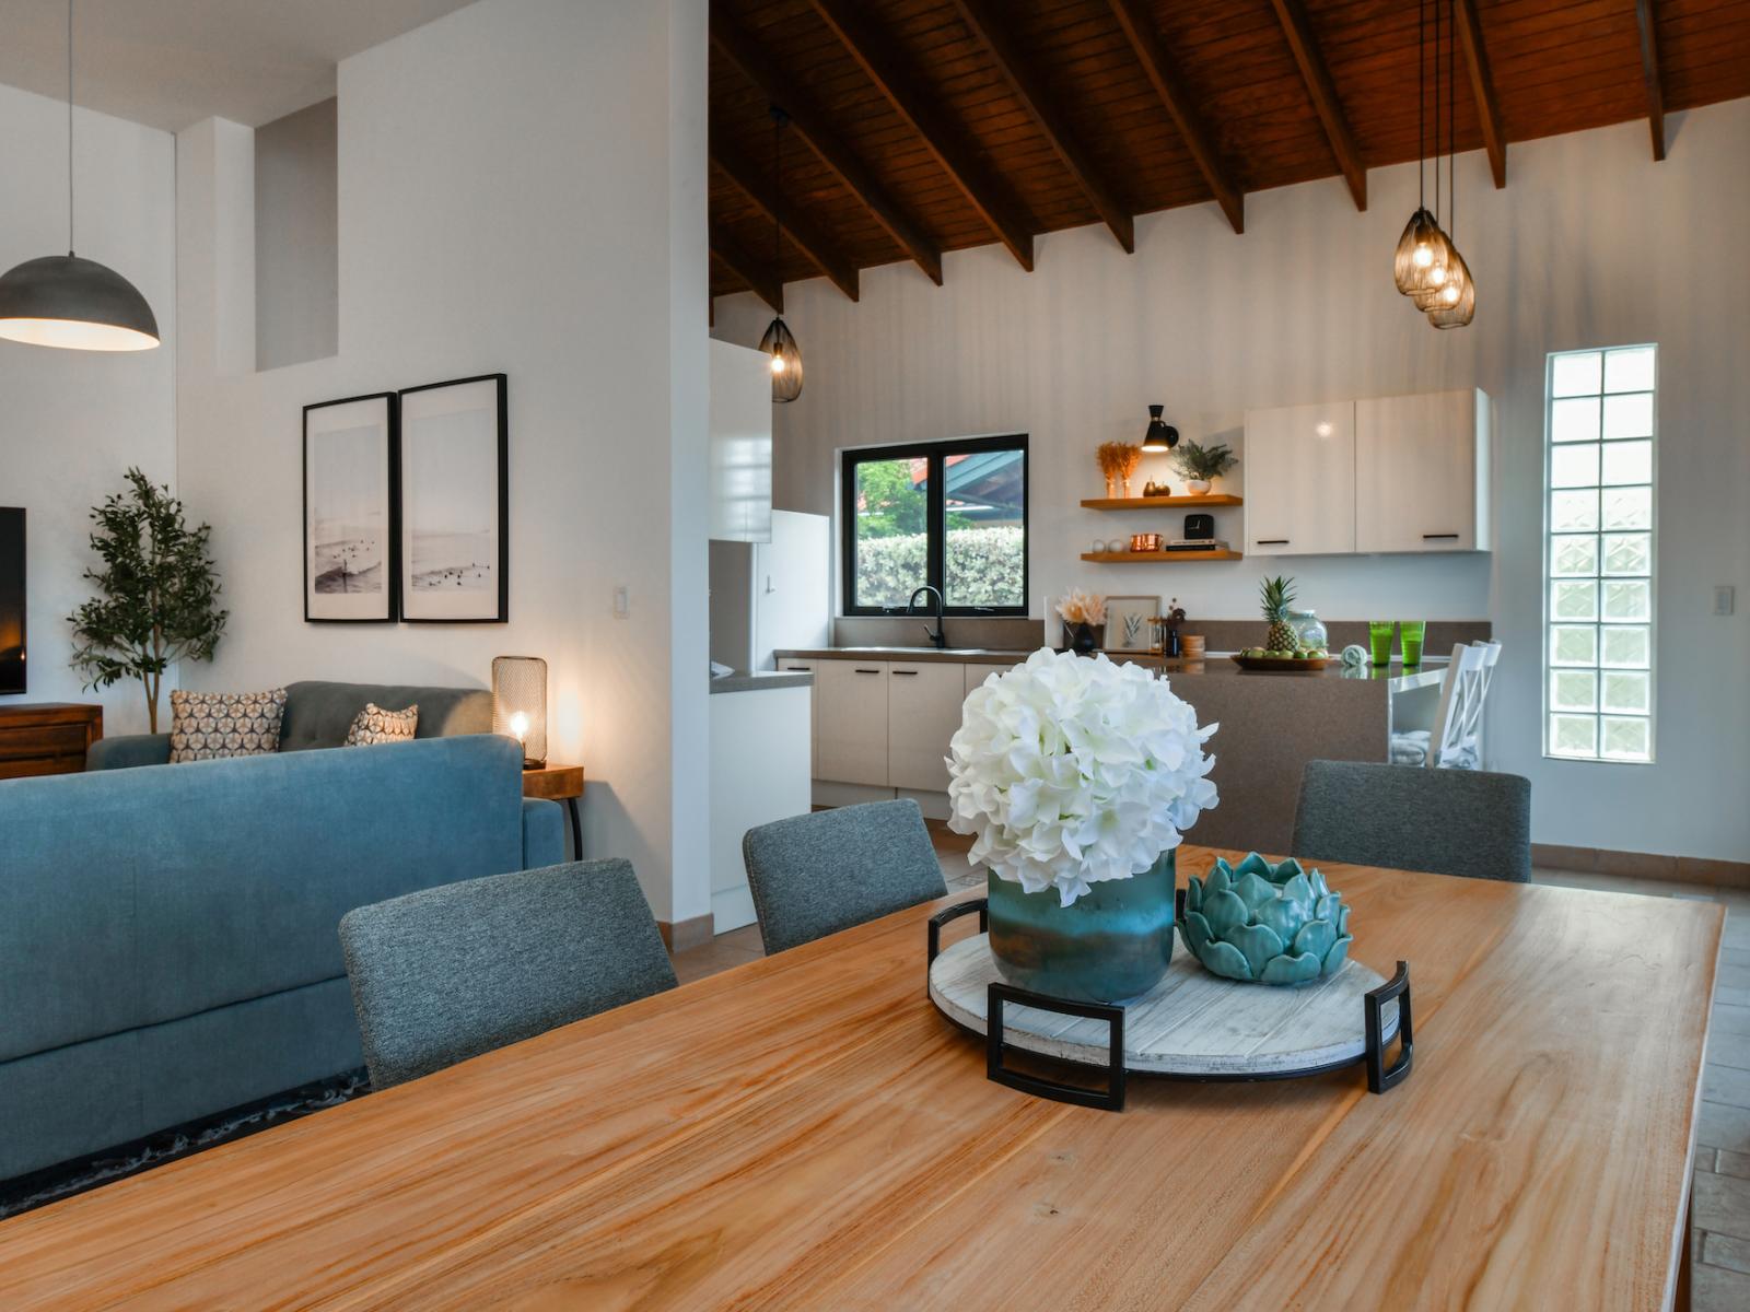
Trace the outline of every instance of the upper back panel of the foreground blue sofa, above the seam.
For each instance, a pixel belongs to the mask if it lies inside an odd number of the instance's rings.
[[[345,973],[354,906],[520,869],[492,735],[0,784],[0,1060]]]

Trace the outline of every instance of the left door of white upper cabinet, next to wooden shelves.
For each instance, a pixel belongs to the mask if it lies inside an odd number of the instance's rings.
[[[1354,551],[1354,402],[1246,411],[1246,551]]]

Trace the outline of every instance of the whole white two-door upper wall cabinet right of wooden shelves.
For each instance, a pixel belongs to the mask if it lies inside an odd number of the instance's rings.
[[[1246,411],[1255,556],[1489,549],[1489,397],[1475,388]]]

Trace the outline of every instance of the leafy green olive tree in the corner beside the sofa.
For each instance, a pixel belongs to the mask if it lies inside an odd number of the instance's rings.
[[[79,646],[72,665],[86,689],[138,679],[158,733],[158,693],[173,661],[210,661],[229,611],[219,609],[219,574],[206,555],[212,525],[189,528],[170,488],[138,469],[128,490],[91,507],[91,549],[103,562],[86,579],[98,597],[68,616]]]

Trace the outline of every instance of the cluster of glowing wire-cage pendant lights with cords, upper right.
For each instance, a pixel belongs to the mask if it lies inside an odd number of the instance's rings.
[[[1465,327],[1477,313],[1477,285],[1470,276],[1470,266],[1458,252],[1458,245],[1447,229],[1458,231],[1458,173],[1454,143],[1454,79],[1452,47],[1454,12],[1447,0],[1446,12],[1446,75],[1440,73],[1440,0],[1433,3],[1433,210],[1426,206],[1426,191],[1421,192],[1416,213],[1404,226],[1398,248],[1391,261],[1391,275],[1398,290],[1416,303],[1416,308],[1428,315],[1428,322],[1437,329]],[[1418,5],[1418,150],[1426,145],[1426,107],[1428,107],[1428,5]],[[1446,87],[1446,220],[1440,227],[1440,89]],[[1418,177],[1426,184],[1426,157],[1418,161]]]

